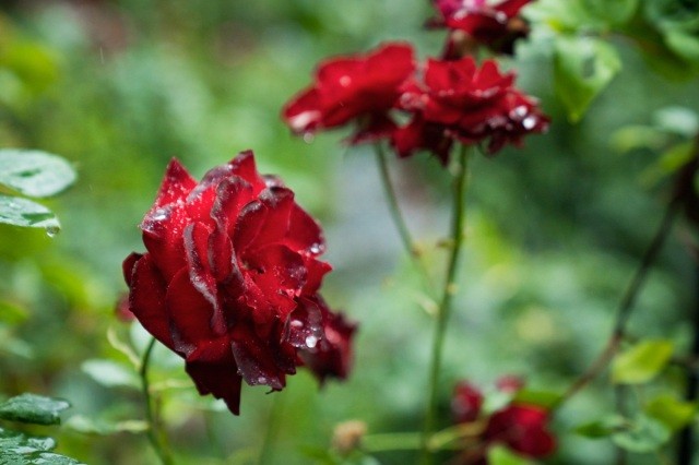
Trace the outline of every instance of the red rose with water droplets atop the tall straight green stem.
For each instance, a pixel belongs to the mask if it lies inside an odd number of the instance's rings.
[[[513,82],[514,74],[501,74],[493,60],[481,67],[471,57],[428,60],[424,82],[411,81],[403,87],[399,105],[414,116],[394,131],[393,147],[403,157],[427,150],[446,164],[454,141],[466,145],[487,141],[490,154],[507,143],[520,146],[524,135],[544,132],[548,118]]]

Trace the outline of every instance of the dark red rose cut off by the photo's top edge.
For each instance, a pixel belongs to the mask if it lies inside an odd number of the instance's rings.
[[[503,0],[490,4],[485,0],[433,0],[438,17],[428,25],[462,33],[450,36],[445,58],[460,58],[457,52],[461,48],[458,44],[460,40],[484,45],[498,53],[511,55],[514,41],[529,34],[529,26],[520,16],[520,10],[530,1]]]

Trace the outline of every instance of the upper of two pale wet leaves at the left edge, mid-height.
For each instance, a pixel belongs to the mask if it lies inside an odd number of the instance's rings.
[[[0,150],[0,184],[28,195],[56,195],[75,181],[63,158],[39,151]]]

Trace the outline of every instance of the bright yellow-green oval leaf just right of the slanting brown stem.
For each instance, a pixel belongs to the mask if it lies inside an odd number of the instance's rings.
[[[643,341],[619,354],[612,365],[612,381],[620,384],[640,384],[660,373],[673,355],[670,341]]]

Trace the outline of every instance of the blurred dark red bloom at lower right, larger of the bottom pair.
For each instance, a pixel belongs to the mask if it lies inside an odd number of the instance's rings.
[[[543,457],[556,449],[547,429],[548,413],[533,405],[510,405],[493,414],[486,427],[486,442],[500,442],[529,457]]]

